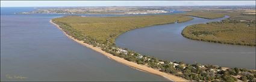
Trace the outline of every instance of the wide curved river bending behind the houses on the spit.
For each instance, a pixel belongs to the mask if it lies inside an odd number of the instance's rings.
[[[116,38],[116,45],[159,59],[255,69],[255,47],[195,41],[181,35],[186,26],[217,22],[228,16],[212,20],[193,18],[189,22],[149,26],[125,32]]]

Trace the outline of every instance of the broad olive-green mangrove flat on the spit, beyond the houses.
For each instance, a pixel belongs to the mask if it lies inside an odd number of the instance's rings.
[[[182,15],[126,16],[126,17],[80,17],[67,16],[54,19],[68,23],[74,29],[94,39],[98,43],[114,43],[114,39],[123,32],[166,23],[186,22],[192,17]]]

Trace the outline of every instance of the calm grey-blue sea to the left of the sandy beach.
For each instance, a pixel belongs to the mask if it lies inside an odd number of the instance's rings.
[[[49,23],[61,15],[13,14],[30,10],[1,7],[1,81],[168,81],[70,40]]]

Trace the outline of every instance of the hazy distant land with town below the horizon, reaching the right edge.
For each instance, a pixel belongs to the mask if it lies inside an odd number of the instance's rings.
[[[37,7],[35,7],[37,8]],[[187,10],[190,9],[190,10]],[[39,7],[35,11],[17,14],[163,14],[173,10],[255,10],[254,6],[151,6],[151,7]]]

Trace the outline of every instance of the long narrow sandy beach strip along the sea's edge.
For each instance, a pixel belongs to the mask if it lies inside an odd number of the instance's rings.
[[[52,20],[50,20],[50,22],[57,26],[58,29],[60,29],[61,31],[63,31],[63,29],[61,29],[57,24],[53,23]],[[64,31],[63,31],[64,32]],[[117,56],[113,56],[112,54],[110,53],[107,53],[103,50],[101,50],[101,48],[99,47],[93,47],[93,45],[90,45],[90,44],[86,44],[84,43],[84,41],[80,41],[80,40],[76,40],[75,38],[73,38],[72,36],[70,35],[67,35],[66,32],[64,32],[64,35],[66,35],[67,37],[69,37],[70,39],[72,39],[73,41],[76,41],[78,42],[79,44],[81,45],[84,45],[86,47],[89,47],[89,48],[92,48],[92,50],[95,50],[95,51],[98,51],[99,53],[102,53],[104,54],[105,56],[107,56],[108,58],[110,59],[113,59],[113,60],[116,60],[117,62],[119,63],[123,63],[125,65],[128,65],[128,66],[131,66],[132,68],[136,68],[136,69],[139,69],[141,71],[145,71],[145,72],[149,72],[149,73],[152,73],[152,74],[156,74],[156,75],[160,75],[162,77],[165,77],[167,79],[169,79],[170,81],[189,81],[189,80],[186,80],[184,78],[181,78],[181,77],[177,77],[175,75],[171,75],[171,74],[167,74],[165,72],[161,72],[161,71],[158,71],[157,69],[153,69],[153,68],[149,68],[148,66],[145,66],[145,65],[139,65],[135,62],[130,62],[128,60],[125,60],[121,57],[117,57]]]

